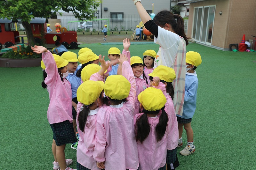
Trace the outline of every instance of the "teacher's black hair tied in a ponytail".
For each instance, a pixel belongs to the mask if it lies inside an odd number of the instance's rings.
[[[164,27],[166,23],[170,24],[173,31],[186,41],[186,46],[188,45],[188,39],[190,38],[185,34],[184,20],[180,15],[173,14],[168,10],[163,10],[156,14],[153,21],[160,27]]]

